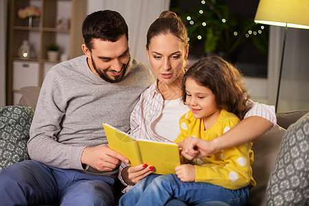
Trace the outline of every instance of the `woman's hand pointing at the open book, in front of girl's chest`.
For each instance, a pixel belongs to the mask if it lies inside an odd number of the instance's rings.
[[[185,140],[179,142],[178,146],[181,148],[181,155],[189,160],[207,157],[216,152],[214,141],[206,141],[196,137],[187,137]]]

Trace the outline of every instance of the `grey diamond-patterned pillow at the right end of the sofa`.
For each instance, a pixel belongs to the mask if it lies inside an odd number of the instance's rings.
[[[286,130],[266,189],[267,205],[309,203],[309,113]]]

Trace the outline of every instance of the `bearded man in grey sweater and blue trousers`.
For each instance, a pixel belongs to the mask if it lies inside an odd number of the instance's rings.
[[[3,205],[113,205],[113,183],[126,157],[106,145],[102,123],[128,132],[139,95],[154,82],[130,58],[128,26],[111,10],[82,25],[85,56],[49,70],[23,161],[0,173]]]

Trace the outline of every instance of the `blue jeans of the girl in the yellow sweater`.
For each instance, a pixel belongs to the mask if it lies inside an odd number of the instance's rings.
[[[124,194],[119,205],[165,205],[172,198],[193,205],[207,201],[246,205],[249,190],[250,186],[229,190],[209,183],[182,182],[176,174],[151,174]]]

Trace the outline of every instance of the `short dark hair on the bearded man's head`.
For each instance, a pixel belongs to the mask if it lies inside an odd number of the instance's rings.
[[[91,50],[93,39],[117,41],[122,35],[128,40],[128,25],[119,12],[102,10],[89,14],[82,23],[82,36],[85,45]]]

